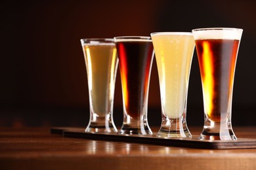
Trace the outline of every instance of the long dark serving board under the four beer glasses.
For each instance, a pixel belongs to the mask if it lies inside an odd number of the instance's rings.
[[[239,138],[237,141],[200,140],[198,135],[192,138],[161,138],[153,135],[119,135],[116,133],[86,133],[81,127],[52,127],[51,133],[62,134],[64,137],[75,137],[101,141],[119,141],[128,143],[158,144],[204,149],[256,148],[256,139]]]

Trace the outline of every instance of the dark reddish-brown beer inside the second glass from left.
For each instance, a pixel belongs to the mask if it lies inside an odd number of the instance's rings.
[[[125,114],[139,119],[148,105],[148,87],[153,59],[151,40],[116,42]]]

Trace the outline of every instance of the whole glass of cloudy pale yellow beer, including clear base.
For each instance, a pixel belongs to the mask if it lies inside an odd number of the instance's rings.
[[[161,93],[158,137],[192,137],[186,126],[188,80],[194,53],[192,33],[151,33]]]

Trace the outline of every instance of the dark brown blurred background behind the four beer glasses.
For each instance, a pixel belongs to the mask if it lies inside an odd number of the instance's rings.
[[[191,31],[244,29],[234,81],[234,126],[255,123],[255,1],[1,1],[0,126],[86,126],[89,96],[79,39]],[[116,79],[114,118],[122,121]],[[148,99],[152,126],[161,123],[156,61]],[[203,125],[196,50],[190,73],[188,126]]]

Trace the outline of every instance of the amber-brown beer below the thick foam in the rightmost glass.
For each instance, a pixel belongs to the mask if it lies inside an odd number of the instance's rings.
[[[231,114],[228,109],[232,105],[238,46],[238,40],[196,40],[205,114],[213,122],[221,122],[221,118]]]

